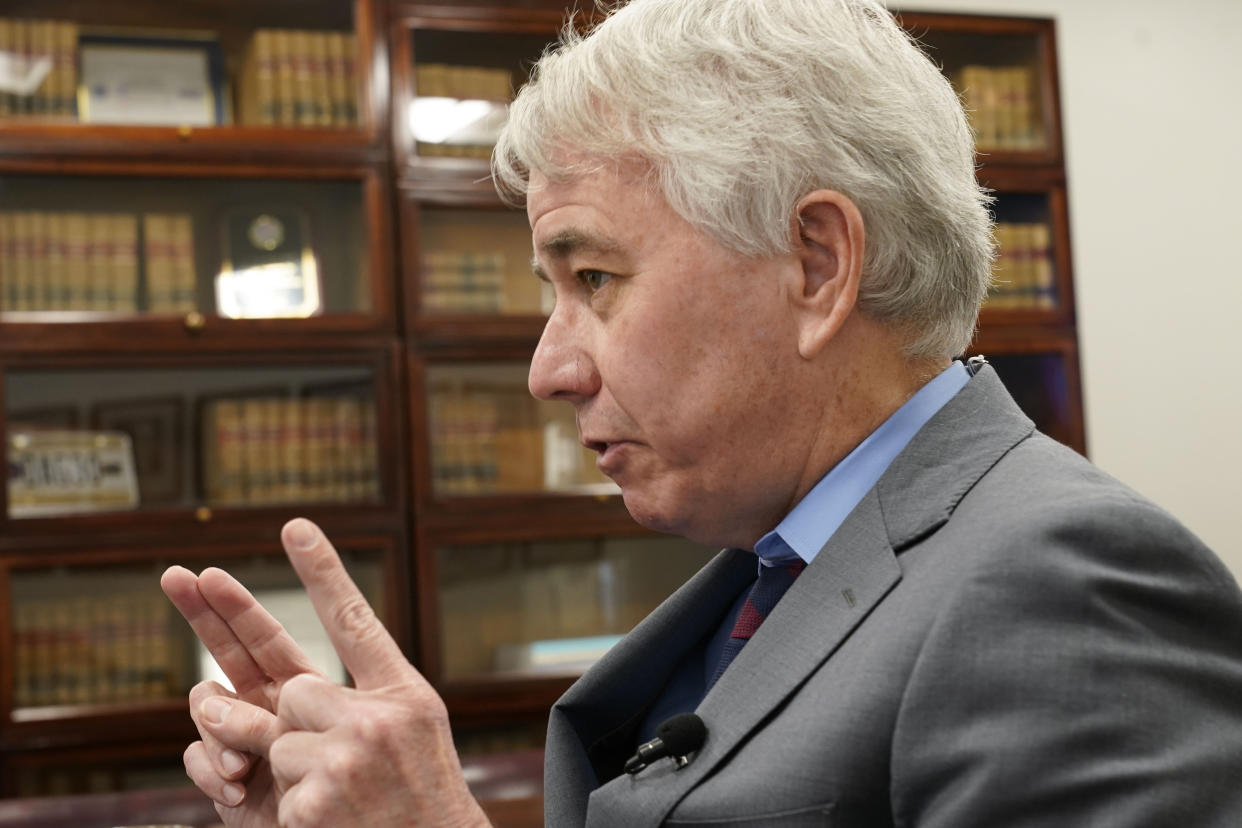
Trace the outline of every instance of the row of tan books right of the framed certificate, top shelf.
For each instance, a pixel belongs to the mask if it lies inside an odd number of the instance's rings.
[[[260,29],[237,78],[243,124],[353,127],[358,123],[353,32]]]

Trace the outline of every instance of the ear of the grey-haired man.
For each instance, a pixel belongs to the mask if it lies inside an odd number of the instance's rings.
[[[791,223],[801,267],[790,302],[799,353],[811,359],[837,335],[858,300],[866,231],[858,207],[836,190],[802,196]]]

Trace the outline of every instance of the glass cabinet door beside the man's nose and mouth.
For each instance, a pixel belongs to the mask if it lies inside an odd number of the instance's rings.
[[[527,366],[427,369],[427,433],[436,495],[619,494],[578,442],[574,411],[527,389]]]

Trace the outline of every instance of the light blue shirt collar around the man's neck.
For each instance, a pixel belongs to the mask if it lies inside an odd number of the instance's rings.
[[[755,554],[764,566],[801,557],[810,564],[846,516],[879,480],[919,428],[970,381],[954,361],[867,436],[807,492],[775,529],[759,539]]]

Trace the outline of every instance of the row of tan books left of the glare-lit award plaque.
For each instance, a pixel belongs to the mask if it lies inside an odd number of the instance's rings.
[[[195,282],[189,215],[0,212],[0,309],[193,310]]]

